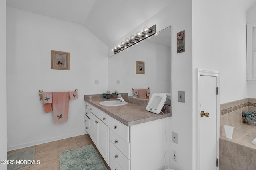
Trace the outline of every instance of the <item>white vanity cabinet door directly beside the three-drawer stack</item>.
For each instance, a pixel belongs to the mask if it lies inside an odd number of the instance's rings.
[[[109,128],[102,121],[98,122],[98,150],[108,164],[109,162]]]

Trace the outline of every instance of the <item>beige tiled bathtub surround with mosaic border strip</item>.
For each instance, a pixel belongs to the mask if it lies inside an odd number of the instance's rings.
[[[220,105],[220,170],[255,170],[256,126],[248,125],[243,111],[256,111],[256,99],[246,98]],[[232,139],[225,137],[224,125],[234,127]]]

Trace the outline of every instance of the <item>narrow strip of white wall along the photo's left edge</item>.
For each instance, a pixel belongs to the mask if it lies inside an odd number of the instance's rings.
[[[0,160],[6,160],[6,132],[7,132],[7,111],[6,111],[6,0],[0,0]],[[6,169],[6,164],[0,164],[0,169]]]

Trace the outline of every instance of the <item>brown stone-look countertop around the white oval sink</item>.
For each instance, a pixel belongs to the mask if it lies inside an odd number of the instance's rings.
[[[86,102],[92,104],[94,107],[97,107],[101,111],[104,111],[106,114],[110,115],[114,119],[120,121],[126,126],[137,125],[140,123],[145,123],[148,121],[154,121],[157,119],[162,119],[165,117],[172,116],[172,113],[164,112],[155,114],[149,111],[146,111],[145,106],[140,106],[128,102],[128,104],[123,106],[102,106],[99,102],[106,100],[116,100],[116,99],[106,99],[106,98],[85,98]]]

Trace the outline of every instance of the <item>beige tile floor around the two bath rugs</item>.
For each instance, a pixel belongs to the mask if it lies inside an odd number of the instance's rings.
[[[59,170],[60,169],[60,162],[59,162],[59,154],[60,152],[64,152],[66,150],[75,149],[78,147],[86,146],[92,144],[96,149],[96,146],[92,142],[92,139],[88,134],[80,135],[76,137],[71,137],[67,139],[62,139],[54,142],[44,143],[41,145],[36,145],[28,148],[35,148],[35,158],[34,160],[40,160],[40,164],[31,164],[30,166],[26,166],[24,168],[20,168],[18,170]],[[23,149],[28,149],[23,148]],[[22,149],[18,149],[22,150]],[[15,152],[18,150],[12,150],[7,153]],[[98,152],[98,149],[96,149]],[[98,152],[100,155],[100,153]],[[102,156],[100,155],[102,158]],[[104,161],[104,159],[102,158]],[[110,168],[104,161],[108,170]]]

